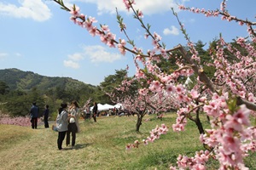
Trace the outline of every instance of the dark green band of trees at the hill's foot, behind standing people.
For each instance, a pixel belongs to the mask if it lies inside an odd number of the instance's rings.
[[[39,107],[39,115],[44,112],[44,105],[49,105],[51,113],[55,113],[62,102],[79,101],[83,102],[93,97],[95,99],[95,89],[65,89],[56,87],[48,91],[39,90],[37,87],[29,91],[9,90],[6,82],[0,82],[0,111],[10,116],[27,116],[32,106],[32,102],[36,102]]]

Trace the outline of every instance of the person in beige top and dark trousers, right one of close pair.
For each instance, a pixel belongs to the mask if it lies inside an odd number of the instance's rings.
[[[67,126],[67,138],[66,138],[66,145],[70,144],[70,133],[72,133],[72,147],[74,147],[76,143],[76,133],[79,133],[79,105],[76,101],[73,101],[69,107],[69,114],[70,117],[69,123]]]

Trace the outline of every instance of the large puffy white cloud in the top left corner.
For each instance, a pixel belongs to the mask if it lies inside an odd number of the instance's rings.
[[[15,18],[32,18],[32,20],[49,20],[51,13],[43,0],[20,0],[20,6],[12,3],[0,3],[0,15]]]

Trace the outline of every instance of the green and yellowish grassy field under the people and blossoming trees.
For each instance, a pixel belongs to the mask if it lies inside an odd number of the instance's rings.
[[[176,165],[177,156],[193,156],[201,150],[198,131],[189,122],[187,131],[172,132],[175,115],[165,115],[163,120],[146,116],[140,133],[135,132],[136,116],[98,117],[97,122],[80,120],[76,147],[57,149],[57,133],[39,126],[19,127],[0,125],[0,169],[168,169]],[[169,132],[153,144],[141,145],[137,149],[125,150],[125,144],[146,139],[156,125],[165,123]],[[206,122],[205,122],[206,123]],[[247,167],[256,167],[255,155],[247,160]],[[218,163],[210,161],[209,169],[217,169]],[[255,168],[254,168],[255,169]]]

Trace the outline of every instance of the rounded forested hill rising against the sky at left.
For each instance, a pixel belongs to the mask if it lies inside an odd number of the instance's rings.
[[[47,91],[52,88],[96,88],[93,85],[79,82],[69,77],[45,77],[32,71],[18,69],[0,70],[0,81],[5,82],[10,90],[29,91],[36,87],[38,90]]]

